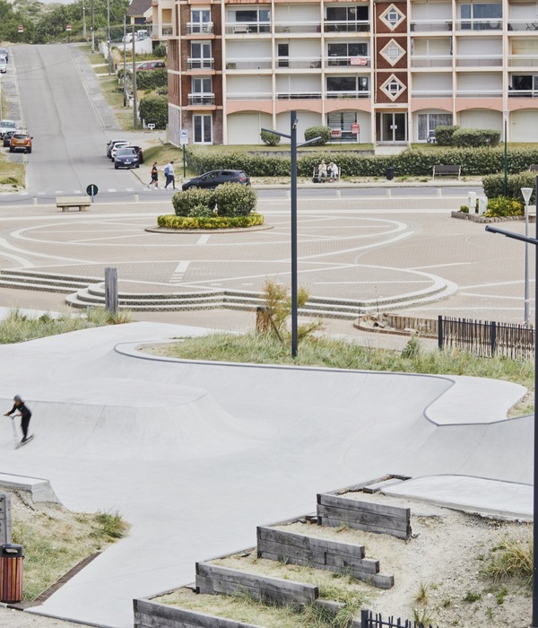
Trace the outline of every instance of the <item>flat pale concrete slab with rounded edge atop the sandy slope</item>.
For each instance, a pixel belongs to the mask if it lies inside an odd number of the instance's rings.
[[[382,492],[484,516],[533,520],[532,484],[472,475],[422,475]],[[499,508],[499,504],[503,507]]]

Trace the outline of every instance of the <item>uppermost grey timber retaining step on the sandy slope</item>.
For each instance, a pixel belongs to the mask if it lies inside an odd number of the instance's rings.
[[[321,526],[343,524],[357,530],[411,538],[411,509],[374,502],[359,502],[341,495],[317,495],[317,518]]]

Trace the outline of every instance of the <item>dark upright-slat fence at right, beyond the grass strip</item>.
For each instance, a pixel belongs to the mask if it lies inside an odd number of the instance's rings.
[[[439,316],[438,347],[457,347],[482,357],[529,360],[534,356],[534,327]]]

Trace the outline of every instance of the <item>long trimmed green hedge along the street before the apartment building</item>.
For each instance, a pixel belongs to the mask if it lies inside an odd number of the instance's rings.
[[[204,147],[187,148],[187,163],[197,174],[209,170],[229,168],[245,170],[251,177],[290,176],[289,156],[268,157],[261,153],[228,153]],[[504,148],[445,148],[436,151],[407,149],[398,155],[362,156],[358,153],[330,153],[323,149],[316,153],[298,153],[299,177],[311,177],[312,170],[322,160],[334,161],[344,176],[384,177],[386,168],[394,168],[397,176],[431,177],[436,164],[456,164],[462,167],[464,176],[483,176],[504,170]],[[538,163],[538,149],[509,150],[508,172],[516,174],[528,170],[531,163]]]

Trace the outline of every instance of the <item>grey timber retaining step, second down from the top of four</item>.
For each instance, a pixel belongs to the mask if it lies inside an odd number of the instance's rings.
[[[391,589],[395,584],[394,576],[379,573],[379,561],[364,558],[364,545],[335,543],[265,526],[258,526],[256,536],[260,558],[346,571],[358,580],[369,580],[380,589]]]

